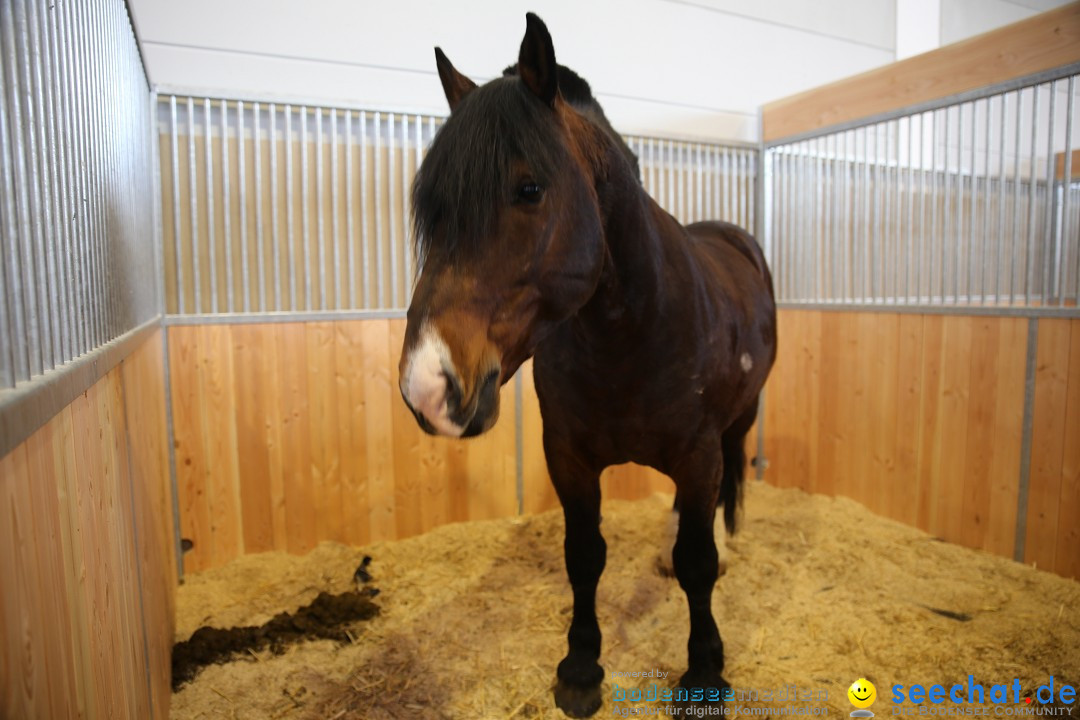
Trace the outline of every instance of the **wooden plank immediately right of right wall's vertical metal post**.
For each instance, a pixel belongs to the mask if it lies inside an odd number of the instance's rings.
[[[1057,552],[1070,343],[1070,321],[1039,321],[1024,561],[1044,570],[1055,567]]]

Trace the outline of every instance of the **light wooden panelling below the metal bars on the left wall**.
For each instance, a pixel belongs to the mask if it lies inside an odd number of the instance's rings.
[[[0,717],[167,718],[161,336],[0,459]]]

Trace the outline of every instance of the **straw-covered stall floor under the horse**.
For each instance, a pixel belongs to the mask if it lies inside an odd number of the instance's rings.
[[[595,717],[654,708],[613,701],[615,685],[664,688],[686,669],[685,596],[656,570],[670,507],[663,495],[604,506],[597,608],[607,679]],[[570,620],[562,547],[556,511],[366,548],[247,556],[190,575],[178,640],[348,589],[365,554],[380,613],[351,628],[352,643],[311,641],[210,666],[174,694],[173,717],[562,718],[551,694]],[[1051,676],[1058,688],[1080,681],[1080,584],[842,499],[752,483],[713,604],[725,676],[742,697],[757,693],[729,704],[729,717],[786,706],[846,717],[847,688],[860,677],[877,684],[878,717],[892,714],[897,683],[948,687],[972,676],[989,691],[1018,679],[1030,694]],[[615,677],[640,671],[666,679]],[[793,685],[796,697],[814,699],[791,701]]]

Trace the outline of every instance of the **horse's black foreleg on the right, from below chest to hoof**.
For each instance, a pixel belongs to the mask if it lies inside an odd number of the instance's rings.
[[[718,555],[714,518],[720,473],[719,453],[707,462],[696,463],[687,476],[677,477],[679,522],[672,561],[675,576],[686,593],[690,607],[690,639],[687,642],[689,668],[679,684],[684,688],[715,688],[723,692],[728,683],[724,670],[724,643],[713,620],[713,586],[718,575]]]

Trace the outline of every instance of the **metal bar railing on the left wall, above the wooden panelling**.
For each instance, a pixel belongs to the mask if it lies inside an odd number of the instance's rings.
[[[158,303],[149,89],[124,3],[5,1],[0,46],[2,393]]]

